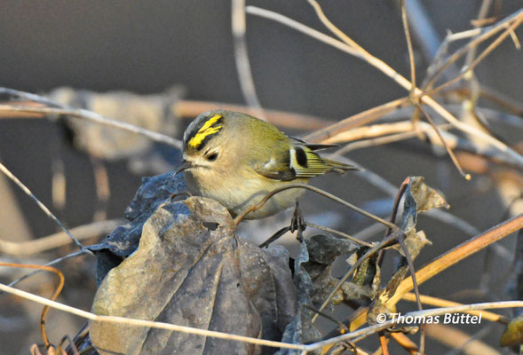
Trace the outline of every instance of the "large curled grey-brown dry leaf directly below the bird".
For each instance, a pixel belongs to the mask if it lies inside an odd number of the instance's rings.
[[[108,272],[92,311],[280,340],[296,310],[288,256],[281,249],[266,254],[235,237],[234,229],[216,201],[163,203],[143,225],[137,251]],[[90,333],[101,354],[263,351],[248,343],[115,323],[93,322]]]

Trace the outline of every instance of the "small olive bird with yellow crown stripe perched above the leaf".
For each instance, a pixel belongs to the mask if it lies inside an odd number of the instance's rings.
[[[190,193],[220,202],[233,217],[276,188],[354,166],[321,158],[315,151],[332,145],[308,144],[286,136],[273,124],[226,110],[200,114],[183,139],[183,171]],[[259,219],[288,209],[305,193],[292,188],[273,195],[244,219]]]

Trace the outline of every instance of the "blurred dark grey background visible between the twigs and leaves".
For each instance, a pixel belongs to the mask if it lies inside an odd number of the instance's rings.
[[[521,8],[520,0],[494,3],[498,19]],[[421,81],[437,48],[433,43],[442,41],[448,30],[456,33],[472,28],[471,20],[477,18],[482,1],[425,0],[408,4],[421,6],[432,30],[422,33],[425,39],[432,38],[432,46],[430,41],[414,38],[417,75]],[[62,92],[57,93],[56,88],[70,87],[159,94],[167,102],[170,99],[172,102],[200,100],[208,102],[210,108],[219,108],[225,103],[245,104],[234,61],[228,1],[0,0],[0,5],[3,9],[0,12],[0,86],[44,95],[52,93],[54,99]],[[249,1],[248,5],[279,12],[328,33],[305,1]],[[329,19],[363,48],[384,59],[401,75],[409,76],[399,1],[324,0],[321,6]],[[522,37],[520,28],[517,34]],[[339,121],[407,94],[360,59],[273,21],[248,14],[246,38],[253,80],[264,108]],[[484,59],[475,73],[480,83],[511,99],[521,100],[522,67],[523,54],[509,39]],[[158,96],[153,100],[155,98]],[[485,101],[484,106],[492,104]],[[170,124],[164,133],[181,138],[192,117],[190,114],[180,116],[175,110],[168,117],[176,120],[176,124]],[[179,152],[160,144],[149,146],[147,154],[93,157],[77,144],[70,144],[71,140],[75,141],[75,131],[71,129],[71,125],[42,118],[0,117],[0,161],[56,212],[67,227],[89,224],[100,216],[123,217],[123,210],[142,176],[173,170],[179,162]],[[297,125],[283,130],[295,135],[307,133]],[[517,143],[514,137],[520,140],[522,130],[507,131],[507,137],[512,139],[509,143]],[[503,134],[503,128],[498,133]],[[435,154],[428,144],[419,140],[356,150],[348,157],[367,170],[376,171],[394,186],[399,186],[408,176],[426,177],[427,184],[447,196],[450,212],[478,231],[498,224],[507,215],[506,201],[497,192],[492,174],[472,173],[471,182],[467,182],[460,177],[448,155]],[[53,196],[52,186],[59,184],[57,171],[66,186],[61,198]],[[99,181],[105,181],[103,184],[109,191],[101,192],[107,198],[102,204]],[[357,175],[320,177],[313,185],[384,217],[392,208],[390,195]],[[4,177],[0,177],[0,196],[1,239],[30,241],[57,232],[57,226],[36,204]],[[62,202],[57,204],[57,201]],[[306,218],[346,233],[357,233],[371,224],[311,193],[305,195],[302,207]],[[97,217],[97,213],[101,215]],[[286,225],[287,217],[244,225],[239,234],[264,240],[272,231]],[[433,245],[424,249],[416,266],[473,234],[431,217],[420,217],[418,226],[424,229]],[[378,241],[381,236],[380,232],[370,240]],[[497,251],[490,254],[482,251],[427,281],[421,288],[422,293],[462,303],[507,299],[508,276],[503,272],[511,264],[516,238],[505,238],[499,244],[501,248]],[[296,241],[289,239],[287,245],[291,253],[296,251]],[[4,254],[0,258],[44,264],[72,251],[74,247],[62,247],[33,256]],[[93,259],[82,256],[58,267],[66,274],[66,286],[59,301],[89,310],[96,291]],[[482,272],[484,270],[487,272]],[[0,278],[6,283],[24,273],[26,271],[3,269]],[[503,277],[491,278],[491,275]],[[54,279],[41,273],[20,283],[20,288],[49,296],[54,284],[49,280]],[[487,294],[483,292],[485,289],[489,291]],[[40,305],[0,296],[0,353],[28,353],[30,344],[41,342],[40,312]],[[75,335],[82,324],[83,319],[51,311],[47,329],[52,342],[58,343],[65,334]],[[483,330],[486,326],[487,332]],[[497,345],[503,327],[484,323],[461,330],[470,335],[480,332],[487,344],[499,353],[506,352]],[[377,343],[377,339],[370,341]],[[449,349],[431,339],[428,342],[430,353],[445,353]]]

